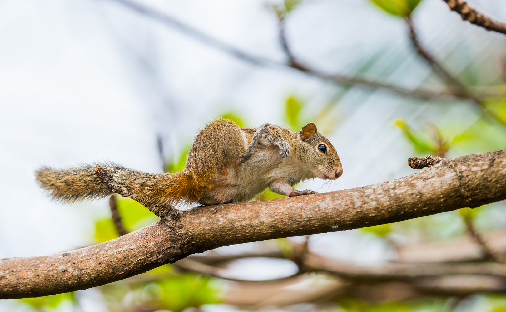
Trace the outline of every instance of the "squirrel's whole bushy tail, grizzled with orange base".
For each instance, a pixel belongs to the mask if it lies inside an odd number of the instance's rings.
[[[205,186],[198,185],[185,171],[147,173],[114,163],[100,164],[99,167],[108,175],[108,186],[97,176],[95,165],[66,169],[42,167],[35,171],[35,177],[40,187],[48,190],[56,200],[74,202],[106,197],[112,194],[112,189],[155,213],[175,204],[197,202],[205,190]]]

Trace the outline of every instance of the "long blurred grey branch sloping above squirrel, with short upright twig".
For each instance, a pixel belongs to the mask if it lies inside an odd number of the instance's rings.
[[[257,66],[264,66],[264,67],[288,67],[292,69],[296,69],[298,71],[304,72],[310,76],[319,77],[324,80],[328,80],[332,83],[342,85],[342,86],[360,86],[364,88],[368,88],[371,90],[377,90],[377,89],[385,89],[389,90],[393,93],[396,93],[398,95],[404,96],[404,97],[411,97],[411,98],[419,98],[419,99],[452,99],[452,98],[459,98],[460,96],[455,95],[451,92],[447,92],[444,90],[436,91],[436,90],[429,90],[427,88],[418,87],[414,90],[409,90],[404,87],[400,87],[397,85],[392,85],[388,83],[383,82],[377,82],[372,81],[356,76],[346,76],[346,75],[338,75],[338,74],[328,74],[324,73],[322,71],[316,70],[314,68],[310,68],[306,65],[302,65],[300,62],[296,61],[293,55],[288,54],[288,63],[280,63],[272,60],[268,60],[262,57],[251,55],[247,52],[244,52],[231,44],[225,43],[219,39],[216,39],[212,36],[209,36],[205,34],[204,32],[197,30],[196,28],[193,28],[189,25],[186,25],[185,23],[165,14],[161,13],[155,9],[149,8],[147,6],[144,6],[138,2],[134,2],[131,0],[110,0],[114,1],[120,5],[123,5],[126,8],[129,8],[139,14],[142,14],[144,16],[147,16],[149,18],[152,18],[160,23],[162,23],[164,26],[171,27],[172,29],[175,29],[179,32],[182,32],[204,44],[206,44],[209,47],[213,47],[223,53],[226,53],[228,55],[231,55],[241,61],[257,65]],[[284,36],[284,24],[280,23],[280,39],[281,39],[281,46],[285,53],[289,53],[289,50],[287,49],[287,44]]]

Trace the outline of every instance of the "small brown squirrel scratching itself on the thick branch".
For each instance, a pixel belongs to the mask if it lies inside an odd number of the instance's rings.
[[[40,187],[63,202],[117,193],[149,208],[157,216],[178,218],[175,205],[216,205],[251,200],[267,187],[285,196],[315,194],[292,186],[343,174],[337,152],[314,123],[300,132],[264,123],[239,127],[219,118],[200,130],[186,167],[176,173],[146,173],[114,163],[35,171]]]

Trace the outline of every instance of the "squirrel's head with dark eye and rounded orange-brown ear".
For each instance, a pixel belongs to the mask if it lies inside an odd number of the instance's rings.
[[[299,136],[305,144],[299,146],[303,152],[298,155],[315,176],[323,180],[335,180],[343,174],[338,152],[327,138],[318,133],[314,123],[302,127]]]

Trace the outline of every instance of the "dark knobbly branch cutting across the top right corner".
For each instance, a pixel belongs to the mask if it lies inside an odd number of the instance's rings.
[[[443,0],[452,11],[457,12],[462,17],[462,20],[469,21],[472,24],[478,25],[489,31],[500,32],[506,34],[506,24],[496,21],[482,13],[478,12],[473,7],[470,7],[463,0]]]

